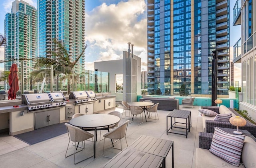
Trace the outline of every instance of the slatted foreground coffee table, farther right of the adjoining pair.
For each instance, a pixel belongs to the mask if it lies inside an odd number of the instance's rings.
[[[164,140],[142,135],[136,139],[129,147],[135,150],[163,157],[164,161],[162,163],[162,168],[166,167],[166,156],[169,153],[170,148],[172,148],[172,168],[174,168],[173,141],[171,140]]]

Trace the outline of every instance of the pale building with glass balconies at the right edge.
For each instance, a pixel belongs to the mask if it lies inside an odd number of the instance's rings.
[[[242,101],[239,110],[256,118],[256,2],[237,0],[233,8],[233,26],[241,25],[241,38],[234,46],[234,64],[242,66]]]

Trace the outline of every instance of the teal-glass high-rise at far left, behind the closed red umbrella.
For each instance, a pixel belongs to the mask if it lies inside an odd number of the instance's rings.
[[[4,20],[5,60],[30,59],[37,56],[37,32],[36,8],[22,0],[12,2],[11,13],[7,13]],[[6,62],[4,70],[9,71],[13,63],[13,61]],[[31,67],[32,61],[24,60],[24,65],[24,79],[27,79],[30,69],[26,67]],[[28,89],[28,81],[24,86]]]

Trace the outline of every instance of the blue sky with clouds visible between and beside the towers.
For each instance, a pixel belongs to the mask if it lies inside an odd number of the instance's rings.
[[[11,12],[14,0],[0,0],[0,34],[4,34],[4,18]],[[37,8],[37,0],[23,0]],[[128,42],[147,70],[147,6],[146,0],[86,0],[85,68],[94,70],[94,62],[122,59]],[[240,38],[240,26],[232,26],[235,0],[230,0],[230,46]],[[230,53],[232,54],[232,53]],[[0,57],[4,56],[0,48]]]

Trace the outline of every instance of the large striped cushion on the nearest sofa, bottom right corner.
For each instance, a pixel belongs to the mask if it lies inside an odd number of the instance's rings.
[[[243,135],[232,135],[215,128],[210,152],[234,166],[239,166],[244,139]]]

